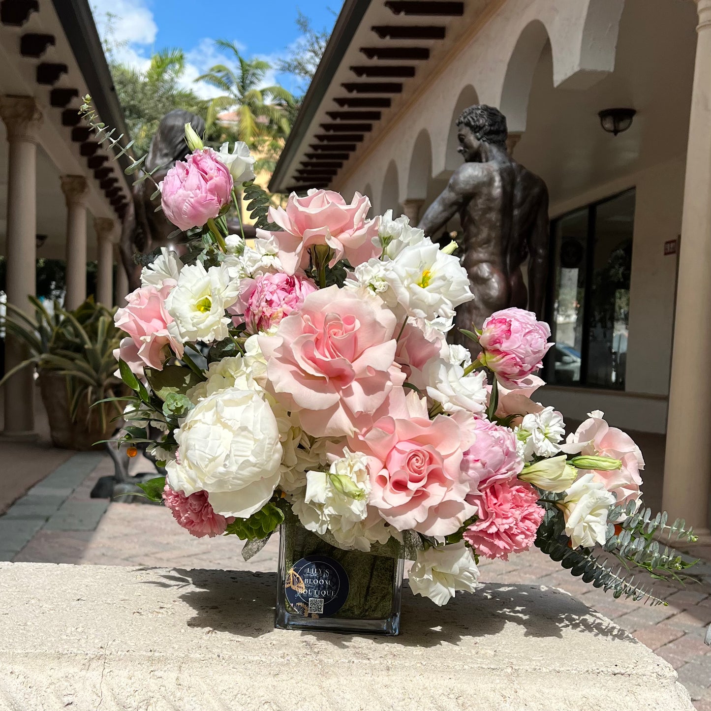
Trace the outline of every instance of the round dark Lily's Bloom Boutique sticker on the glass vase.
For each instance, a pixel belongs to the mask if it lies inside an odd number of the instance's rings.
[[[304,617],[328,617],[348,597],[348,574],[337,560],[309,555],[287,570],[284,592],[289,604]]]

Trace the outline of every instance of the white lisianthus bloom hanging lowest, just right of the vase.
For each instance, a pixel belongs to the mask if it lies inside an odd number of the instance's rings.
[[[429,597],[434,604],[446,605],[456,590],[474,592],[479,568],[464,541],[419,550],[410,570],[410,589]]]

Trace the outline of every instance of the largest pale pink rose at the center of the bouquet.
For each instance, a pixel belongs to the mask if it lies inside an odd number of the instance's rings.
[[[306,296],[298,311],[260,336],[277,399],[299,412],[313,437],[353,434],[400,388],[395,315],[338,287]],[[379,415],[378,415],[379,416]]]

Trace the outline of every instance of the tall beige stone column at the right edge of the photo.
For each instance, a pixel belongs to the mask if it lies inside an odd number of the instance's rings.
[[[709,533],[711,493],[711,0],[697,0],[663,507]]]

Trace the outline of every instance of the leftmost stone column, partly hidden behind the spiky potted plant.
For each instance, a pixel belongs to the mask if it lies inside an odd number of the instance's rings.
[[[33,97],[4,96],[0,97],[0,118],[8,140],[7,300],[31,316],[34,309],[27,297],[36,294],[36,157],[42,113]],[[5,348],[6,370],[27,357],[23,345],[11,336]],[[33,369],[25,368],[14,375],[4,390],[4,436],[35,437]]]

